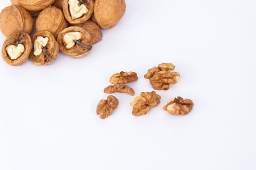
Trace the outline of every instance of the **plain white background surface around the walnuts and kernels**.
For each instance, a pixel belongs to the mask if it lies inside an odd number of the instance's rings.
[[[126,0],[125,16],[84,58],[50,66],[0,58],[0,170],[256,170],[255,0]],[[1,1],[1,9],[10,2]],[[0,44],[5,37],[0,34]],[[181,78],[148,114],[96,106],[112,74],[143,75],[162,62]],[[192,99],[187,116],[161,108]]]

